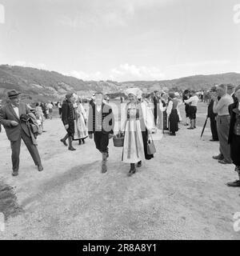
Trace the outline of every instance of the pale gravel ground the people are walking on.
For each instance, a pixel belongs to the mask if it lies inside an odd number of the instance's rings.
[[[198,113],[199,120],[205,110]],[[211,156],[218,142],[210,130],[181,130],[156,141],[157,154],[138,173],[126,176],[121,148],[110,142],[109,171],[100,173],[94,142],[70,152],[59,142],[65,133],[58,118],[46,121],[38,139],[45,170],[38,173],[22,146],[20,174],[12,178],[10,143],[0,134],[0,178],[14,187],[17,216],[6,220],[1,239],[239,239],[233,214],[240,212],[240,190],[226,182],[237,178],[234,166]]]

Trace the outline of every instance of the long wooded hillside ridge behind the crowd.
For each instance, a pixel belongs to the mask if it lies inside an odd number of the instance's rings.
[[[206,90],[214,84],[240,84],[240,74],[195,75],[164,81],[82,81],[81,79],[59,74],[54,71],[38,70],[23,66],[0,66],[0,98],[6,91],[15,89],[21,91],[25,98],[34,101],[56,100],[64,94],[75,91],[79,95],[90,96],[95,90],[117,95],[131,86],[137,86],[144,92],[153,90]]]

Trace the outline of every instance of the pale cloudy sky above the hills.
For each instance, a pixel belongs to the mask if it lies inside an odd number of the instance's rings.
[[[240,73],[240,0],[0,0],[0,63],[83,80]]]

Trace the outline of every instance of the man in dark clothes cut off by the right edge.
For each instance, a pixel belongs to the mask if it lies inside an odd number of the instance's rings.
[[[230,144],[230,156],[238,173],[238,180],[228,182],[227,186],[240,186],[240,86],[236,87],[235,96],[238,101],[229,106],[230,110],[230,131],[228,142]]]

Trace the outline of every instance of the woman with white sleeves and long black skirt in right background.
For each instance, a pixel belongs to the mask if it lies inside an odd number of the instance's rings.
[[[169,117],[170,135],[175,136],[178,131],[178,100],[175,98],[174,92],[169,93],[170,101],[168,103],[166,114]]]

